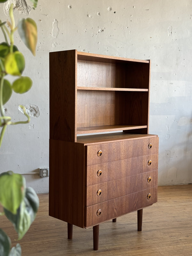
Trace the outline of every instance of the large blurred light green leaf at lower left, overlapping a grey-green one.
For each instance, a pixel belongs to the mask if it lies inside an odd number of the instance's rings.
[[[0,174],[0,203],[5,209],[17,213],[25,195],[25,179],[12,171]]]

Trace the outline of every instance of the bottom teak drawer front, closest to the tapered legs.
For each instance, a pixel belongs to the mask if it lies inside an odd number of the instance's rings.
[[[150,198],[148,199],[149,194]],[[154,187],[85,207],[85,227],[115,219],[120,215],[136,211],[156,202],[157,187]]]

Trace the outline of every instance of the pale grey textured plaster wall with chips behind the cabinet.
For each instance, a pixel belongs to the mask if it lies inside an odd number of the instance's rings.
[[[39,0],[36,11],[24,0],[14,2],[16,19],[29,12],[36,20],[38,44],[33,57],[15,38],[26,58],[24,75],[32,78],[33,87],[26,94],[14,94],[5,108],[13,120],[24,119],[18,109],[23,104],[33,117],[30,124],[8,127],[0,150],[0,172],[48,167],[49,52],[77,49],[151,59],[149,132],[159,135],[159,185],[191,183],[192,2]],[[7,19],[7,8],[0,4],[2,20]],[[49,178],[25,177],[36,192],[48,192]]]

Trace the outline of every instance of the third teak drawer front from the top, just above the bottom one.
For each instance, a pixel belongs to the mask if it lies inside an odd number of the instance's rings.
[[[157,186],[158,171],[145,172],[86,187],[86,206]]]

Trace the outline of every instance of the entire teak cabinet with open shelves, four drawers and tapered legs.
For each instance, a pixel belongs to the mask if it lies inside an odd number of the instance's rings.
[[[49,215],[68,222],[69,239],[73,225],[93,227],[94,250],[101,222],[138,211],[141,231],[157,202],[149,84],[149,60],[50,53]]]

